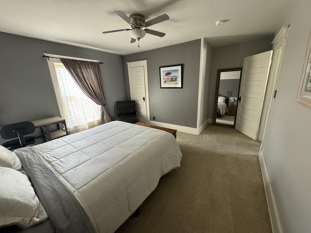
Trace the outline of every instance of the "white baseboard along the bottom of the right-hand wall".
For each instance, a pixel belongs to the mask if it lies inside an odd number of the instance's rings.
[[[276,208],[276,200],[269,180],[268,169],[261,148],[259,150],[259,163],[261,168],[264,191],[266,193],[272,232],[283,233],[282,225],[280,223],[278,211]]]

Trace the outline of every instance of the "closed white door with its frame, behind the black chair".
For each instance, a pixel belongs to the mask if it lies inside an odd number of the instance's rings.
[[[127,63],[131,100],[136,101],[138,121],[149,123],[147,61]]]

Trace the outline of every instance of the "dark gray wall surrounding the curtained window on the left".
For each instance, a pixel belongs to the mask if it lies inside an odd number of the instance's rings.
[[[60,116],[43,53],[100,60],[107,107],[126,99],[123,56],[0,32],[0,126]],[[0,139],[1,140],[1,139]]]

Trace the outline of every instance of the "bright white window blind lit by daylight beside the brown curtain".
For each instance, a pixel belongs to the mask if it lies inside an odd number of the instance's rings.
[[[82,92],[64,65],[55,63],[54,66],[70,133],[99,125],[101,106]]]

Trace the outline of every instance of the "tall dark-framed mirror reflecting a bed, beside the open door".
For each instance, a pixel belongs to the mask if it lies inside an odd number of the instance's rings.
[[[234,127],[241,71],[242,67],[218,70],[214,124]]]

